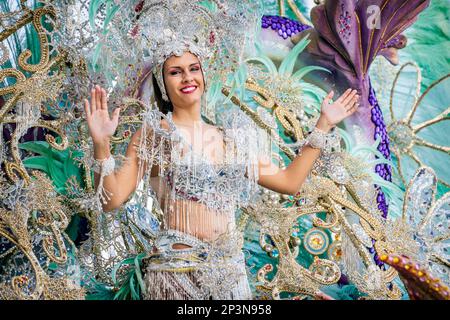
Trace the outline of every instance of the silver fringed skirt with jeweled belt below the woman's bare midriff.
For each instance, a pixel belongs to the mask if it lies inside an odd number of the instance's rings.
[[[173,244],[188,245],[174,249]],[[249,300],[242,235],[207,243],[177,230],[162,231],[157,253],[144,262],[147,300]]]

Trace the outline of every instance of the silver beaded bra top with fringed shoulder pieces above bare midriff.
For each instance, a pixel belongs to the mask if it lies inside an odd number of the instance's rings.
[[[166,119],[168,129],[161,127],[161,118]],[[213,163],[193,150],[175,126],[171,112],[163,115],[151,110],[145,114],[145,123],[150,132],[143,139],[146,145],[141,145],[140,157],[159,166],[158,176],[169,186],[170,198],[199,202],[218,212],[234,212],[257,198],[257,154],[249,147],[255,132],[249,127],[237,130],[233,122],[217,126],[223,133],[225,156],[221,163]]]

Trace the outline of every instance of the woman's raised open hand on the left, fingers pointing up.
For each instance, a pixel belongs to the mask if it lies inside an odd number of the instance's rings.
[[[84,99],[84,110],[89,127],[89,134],[94,144],[109,144],[111,136],[119,124],[120,108],[114,110],[112,118],[108,113],[106,91],[96,85],[91,90],[91,103]]]

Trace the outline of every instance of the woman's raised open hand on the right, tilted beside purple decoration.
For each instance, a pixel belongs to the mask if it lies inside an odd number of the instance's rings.
[[[334,92],[330,91],[322,102],[317,128],[328,132],[339,122],[352,115],[359,107],[359,95],[356,90],[347,89],[336,101],[330,104]]]

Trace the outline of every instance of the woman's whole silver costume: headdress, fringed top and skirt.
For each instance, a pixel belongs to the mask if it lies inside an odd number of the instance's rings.
[[[206,92],[215,83],[225,82],[242,62],[245,43],[258,21],[254,9],[240,2],[218,1],[208,7],[197,1],[142,1],[122,15],[133,21],[130,36],[139,48],[145,48],[138,54],[150,62],[161,98],[167,102],[164,62],[190,52],[199,59]],[[249,32],[241,32],[243,27]],[[212,90],[210,98],[214,94],[217,89]],[[208,100],[206,95],[204,101]],[[216,122],[213,104],[203,103],[202,115]],[[184,140],[170,112],[162,114],[158,108],[144,112],[143,138],[138,146],[139,176],[144,177],[144,198],[152,198],[151,205],[162,212],[161,230],[155,240],[159,252],[147,259],[147,298],[251,298],[242,239],[218,240],[233,234],[242,238],[236,229],[236,208],[256,199],[257,159],[271,152],[266,143],[268,134],[257,130],[250,119],[242,122],[240,118],[223,119],[223,127],[218,130],[223,137],[224,156],[212,162]],[[102,191],[101,183],[99,190],[97,194],[104,201],[108,192]],[[173,244],[190,249],[174,249]],[[189,261],[185,266],[189,275],[180,274],[174,260]],[[236,279],[232,285],[230,281]]]

